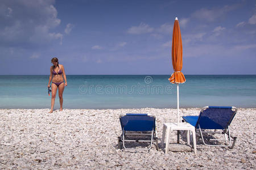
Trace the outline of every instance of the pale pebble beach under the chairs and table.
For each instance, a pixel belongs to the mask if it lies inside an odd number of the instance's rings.
[[[204,146],[164,154],[163,123],[176,122],[176,109],[0,109],[1,169],[256,169],[256,109],[238,108],[230,126],[237,137],[232,150]],[[180,109],[198,115],[200,108]],[[119,114],[156,116],[159,150],[127,151],[117,147]],[[176,132],[171,134],[176,142]],[[181,143],[185,141],[181,140]]]

